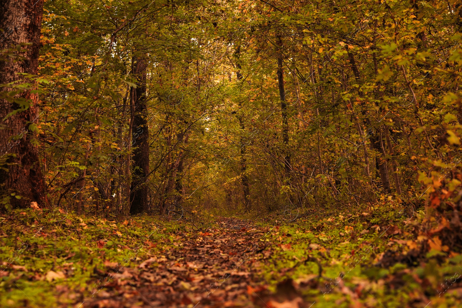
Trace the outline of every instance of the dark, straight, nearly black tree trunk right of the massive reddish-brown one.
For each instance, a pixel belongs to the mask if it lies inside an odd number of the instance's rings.
[[[132,89],[134,102],[133,118],[133,180],[130,188],[130,214],[149,209],[146,175],[149,173],[149,131],[146,107],[146,59],[133,58],[132,72],[137,76],[137,88]]]

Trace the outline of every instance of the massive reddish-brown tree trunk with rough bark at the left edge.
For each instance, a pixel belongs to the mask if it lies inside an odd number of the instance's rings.
[[[15,54],[22,60],[7,58],[0,61],[0,84],[17,82],[22,76],[17,73],[36,74],[40,48],[40,29],[43,15],[43,0],[0,0],[0,28],[4,30],[0,39],[0,50],[27,43],[24,52]],[[30,82],[30,80],[28,80]],[[2,88],[1,91],[11,89]],[[28,207],[31,201],[48,205],[45,181],[39,166],[37,146],[30,143],[30,123],[37,123],[38,95],[24,91],[16,97],[25,98],[30,107],[16,115],[5,117],[19,109],[17,103],[0,100],[0,156],[6,158],[4,165],[9,171],[0,171],[0,187],[8,193],[21,195],[12,198],[12,207]],[[15,136],[13,140],[10,138]]]

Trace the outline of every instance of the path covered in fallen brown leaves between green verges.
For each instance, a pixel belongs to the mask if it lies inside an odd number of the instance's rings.
[[[187,237],[178,231],[175,248],[114,273],[84,307],[253,307],[251,288],[271,254],[267,232],[233,218]]]

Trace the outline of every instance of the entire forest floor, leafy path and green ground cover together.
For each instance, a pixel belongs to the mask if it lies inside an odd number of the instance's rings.
[[[418,230],[422,211],[397,213],[117,222],[12,211],[0,216],[0,306],[462,307],[462,256]]]

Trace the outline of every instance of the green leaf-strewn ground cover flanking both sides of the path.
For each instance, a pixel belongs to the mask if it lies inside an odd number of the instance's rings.
[[[266,247],[248,264],[250,290],[266,290],[270,298],[290,278],[304,302],[317,307],[462,307],[462,255],[418,232],[423,211],[408,217],[398,210],[300,215],[292,222],[254,217],[251,223],[267,232],[249,240]],[[181,248],[201,231],[219,230],[213,219],[167,222],[140,215],[116,221],[32,209],[3,214],[0,306],[78,307],[101,289],[108,266],[134,268]],[[403,258],[423,248],[419,258]],[[253,293],[243,290],[249,300]]]

